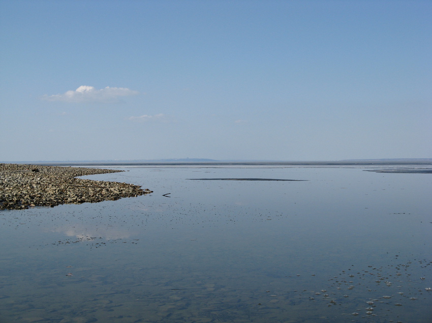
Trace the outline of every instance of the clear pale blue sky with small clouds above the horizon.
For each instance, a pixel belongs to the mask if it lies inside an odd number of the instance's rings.
[[[432,158],[432,1],[0,1],[0,161]]]

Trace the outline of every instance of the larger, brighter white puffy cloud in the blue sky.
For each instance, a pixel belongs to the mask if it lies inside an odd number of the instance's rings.
[[[63,94],[44,95],[42,98],[47,101],[63,102],[115,102],[120,96],[130,96],[138,94],[127,88],[110,88],[97,90],[92,86],[81,85],[75,91],[67,91]]]

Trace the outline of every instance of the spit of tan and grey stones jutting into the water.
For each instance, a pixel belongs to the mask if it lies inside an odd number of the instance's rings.
[[[0,163],[0,209],[118,200],[151,193],[138,185],[76,176],[122,170]]]

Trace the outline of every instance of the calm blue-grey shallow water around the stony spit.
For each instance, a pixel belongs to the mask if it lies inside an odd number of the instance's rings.
[[[432,321],[432,174],[111,168],[154,193],[0,212],[0,322]]]

